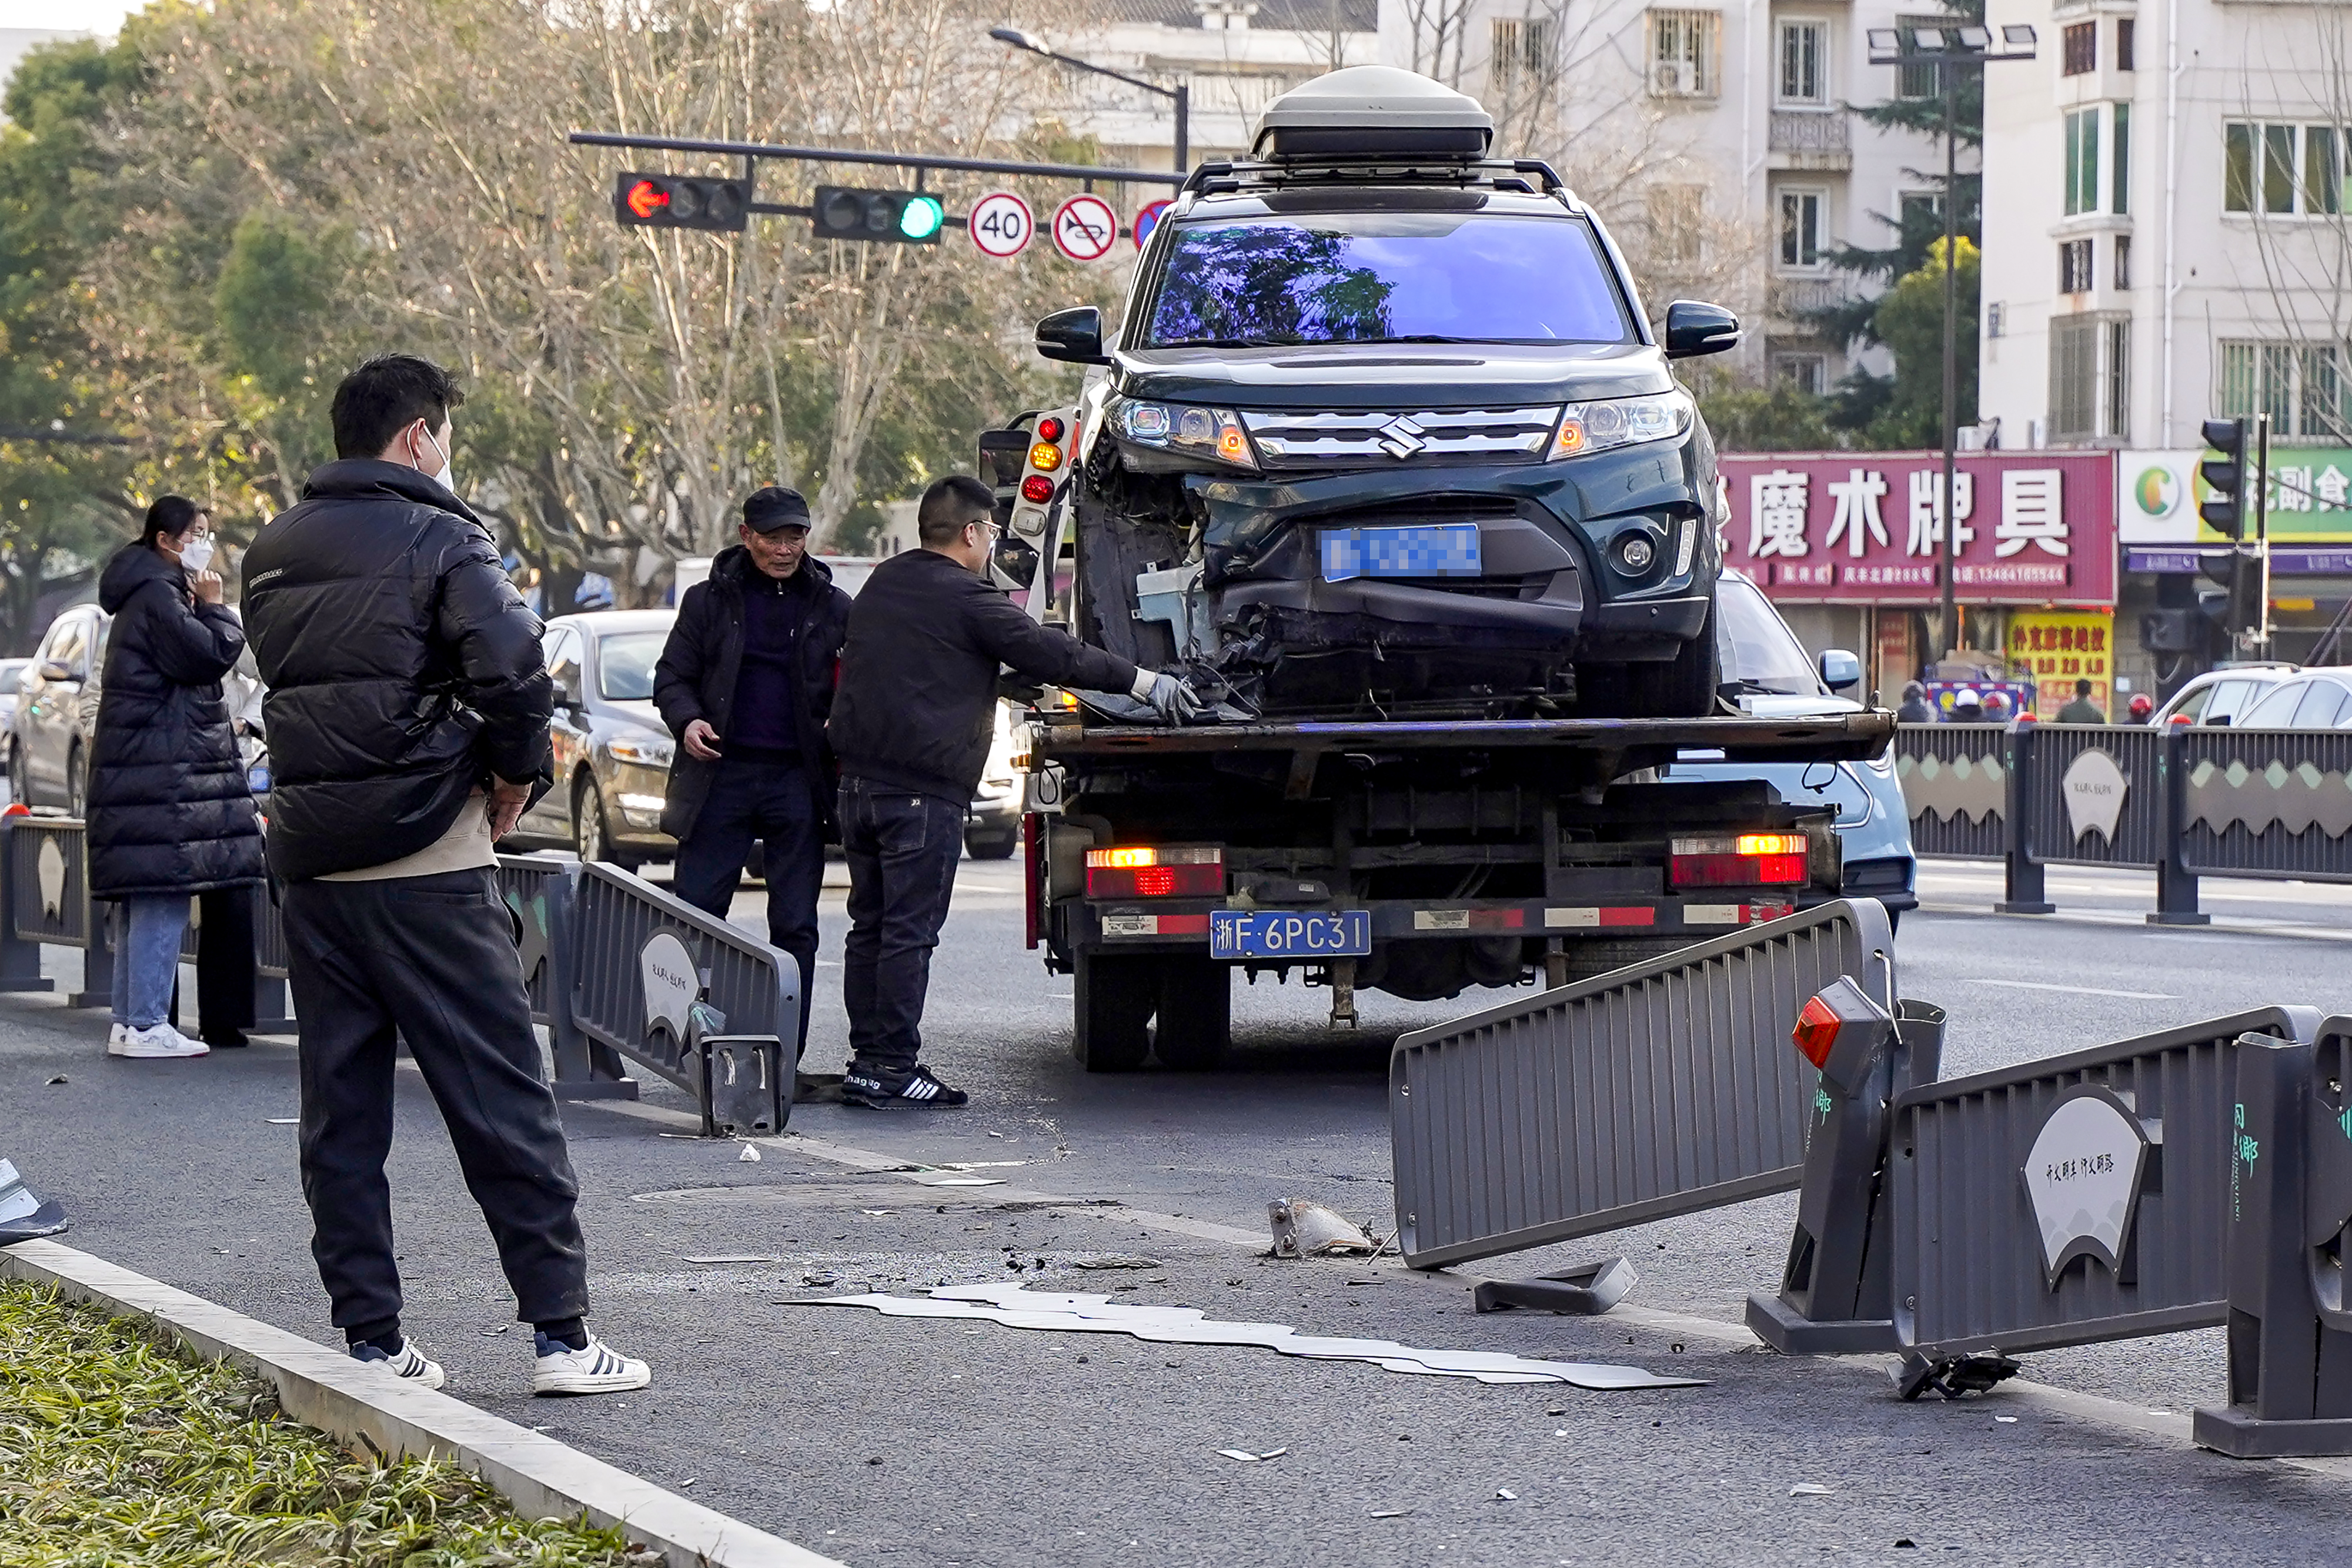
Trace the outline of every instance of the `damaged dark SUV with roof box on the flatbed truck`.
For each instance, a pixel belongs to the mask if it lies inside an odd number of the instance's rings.
[[[1661,341],[1599,216],[1491,136],[1336,71],[1192,174],[1108,341],[1037,324],[1096,369],[983,449],[1061,470],[1011,512],[1070,557],[1056,618],[1263,715],[1717,710],[1715,444],[1668,362],[1738,320],[1677,301]]]

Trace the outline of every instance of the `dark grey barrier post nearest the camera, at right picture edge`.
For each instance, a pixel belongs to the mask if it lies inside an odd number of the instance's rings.
[[[2192,1432],[2201,1448],[2241,1460],[2352,1453],[2352,1314],[2317,1288],[2352,1220],[2338,1025],[2317,1051],[2260,1037],[2237,1051],[2230,1406],[2197,1410]],[[2324,1072],[2326,1088],[2314,1081]]]

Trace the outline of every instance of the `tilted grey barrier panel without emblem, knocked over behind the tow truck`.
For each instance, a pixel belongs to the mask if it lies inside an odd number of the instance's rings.
[[[1891,1006],[1875,900],[1404,1034],[1388,1065],[1404,1260],[1435,1269],[1797,1187],[1820,1093],[1790,1027],[1839,976]]]

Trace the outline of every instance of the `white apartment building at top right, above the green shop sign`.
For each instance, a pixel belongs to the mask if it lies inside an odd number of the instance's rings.
[[[1985,94],[1980,409],[2004,447],[2197,444],[2267,411],[2347,444],[2345,7],[1997,5],[2042,31]]]

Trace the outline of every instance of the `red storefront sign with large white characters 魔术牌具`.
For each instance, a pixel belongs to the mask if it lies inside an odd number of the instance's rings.
[[[1719,458],[1724,564],[1776,599],[1943,597],[1940,451]],[[2114,604],[2114,456],[1966,451],[1955,482],[1962,604]]]

